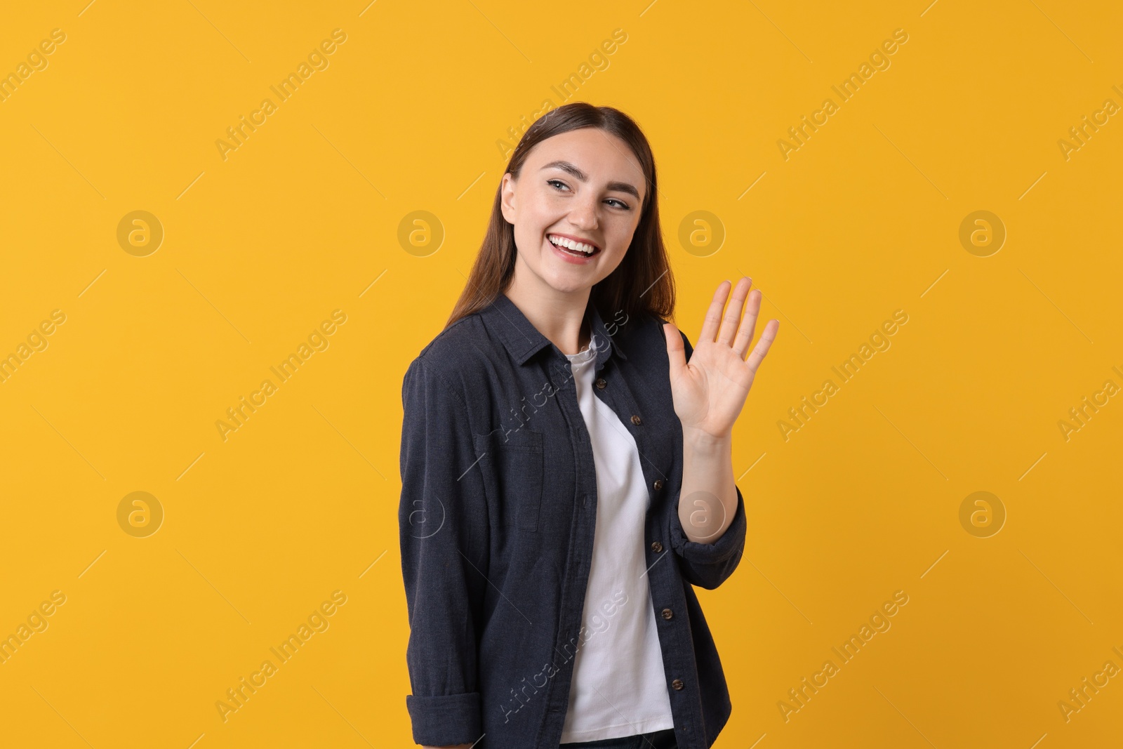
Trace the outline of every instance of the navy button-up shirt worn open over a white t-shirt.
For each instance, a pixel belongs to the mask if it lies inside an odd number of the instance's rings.
[[[647,578],[675,737],[679,749],[706,749],[731,705],[692,585],[715,588],[737,568],[741,492],[716,541],[687,540],[663,320],[621,311],[605,321],[592,302],[586,319],[597,346],[595,394],[636,438],[650,494]],[[413,740],[556,748],[574,656],[590,637],[582,612],[597,502],[569,360],[501,293],[422,349],[402,403]]]

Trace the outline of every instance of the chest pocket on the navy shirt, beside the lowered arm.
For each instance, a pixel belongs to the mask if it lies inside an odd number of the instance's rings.
[[[542,433],[530,429],[502,429],[475,437],[484,486],[500,497],[503,510],[514,514],[520,530],[537,531],[542,505]]]

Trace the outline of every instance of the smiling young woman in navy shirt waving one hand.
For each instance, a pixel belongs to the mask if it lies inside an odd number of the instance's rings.
[[[448,323],[405,374],[420,745],[706,749],[729,719],[692,586],[718,587],[745,548],[731,433],[779,321],[749,353],[748,278],[731,299],[718,286],[696,347],[667,321],[656,185],[628,116],[542,116]]]

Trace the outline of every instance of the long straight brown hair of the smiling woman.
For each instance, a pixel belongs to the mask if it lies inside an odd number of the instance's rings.
[[[639,159],[647,191],[640,209],[639,223],[631,245],[620,265],[595,284],[590,293],[593,304],[605,320],[620,311],[628,316],[655,314],[670,319],[675,309],[675,281],[670,274],[667,248],[659,228],[659,201],[655,176],[655,156],[642,130],[634,120],[612,107],[594,107],[575,101],[550,110],[538,118],[523,134],[511,154],[506,172],[519,179],[530,149],[542,140],[569,130],[595,127],[617,136],[628,144]],[[480,254],[472,266],[468,282],[453,308],[445,327],[484,309],[495,296],[506,290],[514,276],[514,227],[506,222],[501,210],[502,182],[495,190],[491,220],[484,235]]]

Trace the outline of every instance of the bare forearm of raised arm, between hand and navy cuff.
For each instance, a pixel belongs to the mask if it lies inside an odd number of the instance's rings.
[[[733,438],[714,438],[683,429],[683,487],[678,521],[686,538],[713,544],[725,532],[737,513],[733,479]]]

